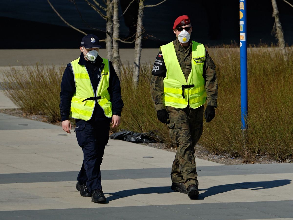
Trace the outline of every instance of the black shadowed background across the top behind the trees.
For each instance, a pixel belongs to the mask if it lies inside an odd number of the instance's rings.
[[[120,0],[125,9],[131,0]],[[160,0],[145,0],[145,4],[156,4]],[[289,0],[288,0],[289,1]],[[292,1],[292,0],[291,0]],[[51,0],[60,14],[72,25],[86,33],[105,38],[105,33],[93,31],[84,24],[75,6],[68,0]],[[84,20],[90,26],[105,29],[105,20],[100,18],[83,0],[77,5]],[[291,2],[293,4],[293,1]],[[293,44],[293,8],[282,0],[277,0],[285,41]],[[250,44],[277,43],[271,35],[274,24],[270,0],[247,0],[248,30]],[[135,30],[137,5],[133,5],[121,17],[120,35],[131,36]],[[215,46],[239,43],[239,1],[237,0],[167,0],[156,7],[144,10],[144,27],[147,39],[143,48],[157,48],[174,39],[174,20],[180,15],[188,15],[193,26],[192,39],[205,45]],[[15,0],[0,2],[1,49],[22,48],[76,48],[83,34],[66,26],[45,0]],[[102,43],[103,45],[103,43]],[[120,43],[120,48],[133,48],[132,44]]]

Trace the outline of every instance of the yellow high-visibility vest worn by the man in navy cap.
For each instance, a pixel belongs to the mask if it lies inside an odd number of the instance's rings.
[[[85,121],[90,120],[96,100],[104,110],[105,116],[108,118],[112,117],[112,103],[110,102],[110,94],[108,92],[110,77],[109,60],[102,59],[104,68],[101,72],[96,96],[86,67],[78,64],[79,58],[71,62],[76,88],[76,92],[71,99],[70,116],[72,118]]]

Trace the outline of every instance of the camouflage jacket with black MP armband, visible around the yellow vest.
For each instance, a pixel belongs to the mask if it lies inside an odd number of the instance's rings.
[[[173,44],[175,47],[178,62],[180,64],[181,70],[187,82],[188,76],[191,72],[192,42],[190,43],[190,46],[187,49],[181,46],[178,39],[174,40]],[[205,79],[205,89],[207,92],[207,105],[217,107],[218,81],[217,81],[215,67],[216,65],[214,64],[214,61],[209,56],[206,50],[202,76]],[[166,73],[167,73],[161,51],[156,57],[151,73],[152,73],[151,85],[150,85],[151,97],[154,101],[156,111],[159,111],[165,108],[164,101],[163,101],[163,94],[164,94],[163,80],[166,77]]]

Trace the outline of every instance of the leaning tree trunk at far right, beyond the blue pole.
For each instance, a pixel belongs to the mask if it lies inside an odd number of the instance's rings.
[[[284,34],[283,34],[282,25],[281,25],[280,18],[279,18],[279,11],[278,11],[276,0],[272,0],[272,6],[273,6],[272,16],[275,17],[275,24],[274,24],[274,28],[276,28],[275,36],[278,39],[278,45],[282,51],[282,54],[284,56],[284,60],[287,60]]]

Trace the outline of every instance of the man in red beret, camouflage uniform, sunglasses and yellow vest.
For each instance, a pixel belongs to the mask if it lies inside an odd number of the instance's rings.
[[[177,145],[171,189],[195,199],[198,181],[194,147],[202,134],[206,100],[206,122],[215,116],[216,66],[204,45],[190,40],[192,26],[188,16],[175,20],[173,32],[176,40],[160,47],[152,69],[150,89],[157,117],[167,124],[171,139]]]

